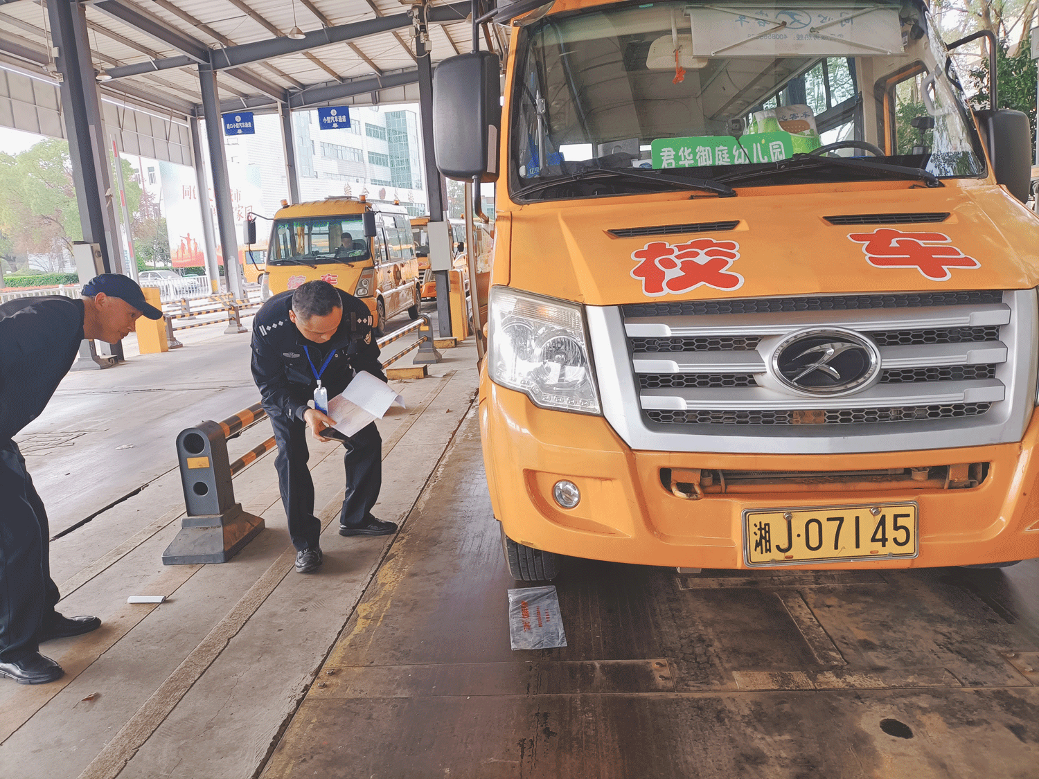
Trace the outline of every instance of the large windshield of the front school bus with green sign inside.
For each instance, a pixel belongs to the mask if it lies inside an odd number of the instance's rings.
[[[916,2],[595,6],[544,17],[517,44],[517,202],[667,191],[693,177],[940,186],[985,172],[939,30]]]

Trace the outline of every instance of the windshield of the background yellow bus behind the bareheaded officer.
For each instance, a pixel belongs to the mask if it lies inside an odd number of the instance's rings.
[[[273,239],[271,265],[355,263],[371,257],[361,214],[277,219]]]

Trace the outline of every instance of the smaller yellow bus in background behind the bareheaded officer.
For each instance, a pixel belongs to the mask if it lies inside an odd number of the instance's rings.
[[[377,328],[405,312],[419,318],[419,263],[402,206],[365,195],[286,206],[268,246],[271,294],[322,278],[364,300]]]

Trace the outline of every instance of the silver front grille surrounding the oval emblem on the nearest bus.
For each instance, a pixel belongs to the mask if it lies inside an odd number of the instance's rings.
[[[1036,308],[1033,290],[982,290],[588,312],[604,413],[633,448],[833,453],[1019,440],[1036,399]],[[834,398],[761,380],[760,345],[827,327],[878,345],[879,381]]]

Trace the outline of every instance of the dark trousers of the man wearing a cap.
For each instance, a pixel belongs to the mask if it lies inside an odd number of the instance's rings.
[[[18,445],[0,440],[0,663],[39,650],[44,619],[57,602],[44,502]]]

